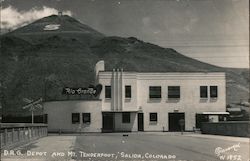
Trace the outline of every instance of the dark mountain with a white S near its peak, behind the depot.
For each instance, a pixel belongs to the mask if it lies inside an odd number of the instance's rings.
[[[23,98],[67,99],[62,88],[94,84],[94,66],[138,72],[227,73],[227,103],[249,97],[249,69],[221,68],[135,37],[108,37],[69,16],[52,15],[1,35],[1,93],[6,113]],[[78,97],[77,97],[78,98]]]

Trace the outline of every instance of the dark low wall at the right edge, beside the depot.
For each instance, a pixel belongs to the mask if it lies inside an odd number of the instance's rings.
[[[203,134],[250,137],[250,121],[204,122],[201,124]]]

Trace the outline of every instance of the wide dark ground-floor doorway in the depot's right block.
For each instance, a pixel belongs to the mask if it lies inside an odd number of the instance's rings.
[[[185,113],[168,113],[169,131],[181,131],[180,120],[185,120]],[[185,124],[183,126],[185,130]]]

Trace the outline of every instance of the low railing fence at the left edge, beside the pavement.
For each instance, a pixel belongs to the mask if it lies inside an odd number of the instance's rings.
[[[47,136],[46,124],[1,123],[1,148]]]

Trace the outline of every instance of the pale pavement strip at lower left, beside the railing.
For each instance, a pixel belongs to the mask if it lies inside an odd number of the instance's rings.
[[[5,154],[3,151],[1,157],[3,161],[47,161],[51,158],[53,161],[68,160],[67,155],[62,155],[73,150],[75,140],[76,136],[48,136],[14,148],[15,155],[10,150],[5,151]]]

